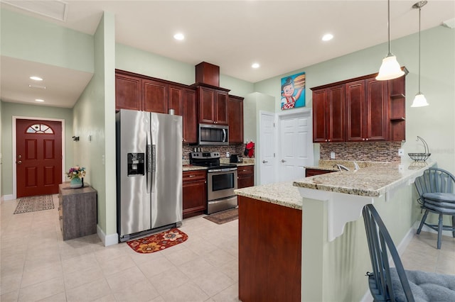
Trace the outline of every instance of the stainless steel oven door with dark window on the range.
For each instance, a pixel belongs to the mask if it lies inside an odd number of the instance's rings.
[[[234,196],[237,189],[237,168],[207,173],[208,201]]]

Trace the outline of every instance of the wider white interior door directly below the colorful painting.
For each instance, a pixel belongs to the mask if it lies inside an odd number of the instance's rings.
[[[279,181],[303,178],[312,165],[311,111],[279,116]]]

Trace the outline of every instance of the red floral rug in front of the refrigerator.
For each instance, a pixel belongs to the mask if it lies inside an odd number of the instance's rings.
[[[185,242],[187,239],[188,235],[181,230],[178,230],[178,228],[171,228],[171,230],[166,230],[165,232],[136,240],[129,240],[127,241],[127,244],[134,252],[149,254],[151,252],[162,251],[168,247],[173,247],[174,245]]]

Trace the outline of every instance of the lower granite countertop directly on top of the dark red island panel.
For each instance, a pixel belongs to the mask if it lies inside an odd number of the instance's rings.
[[[236,189],[235,194],[301,210],[299,189],[291,181]]]

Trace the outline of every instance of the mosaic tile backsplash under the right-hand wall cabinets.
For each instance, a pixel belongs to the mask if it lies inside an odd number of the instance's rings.
[[[329,142],[320,145],[320,159],[360,160],[372,162],[400,162],[398,149],[401,142]]]

